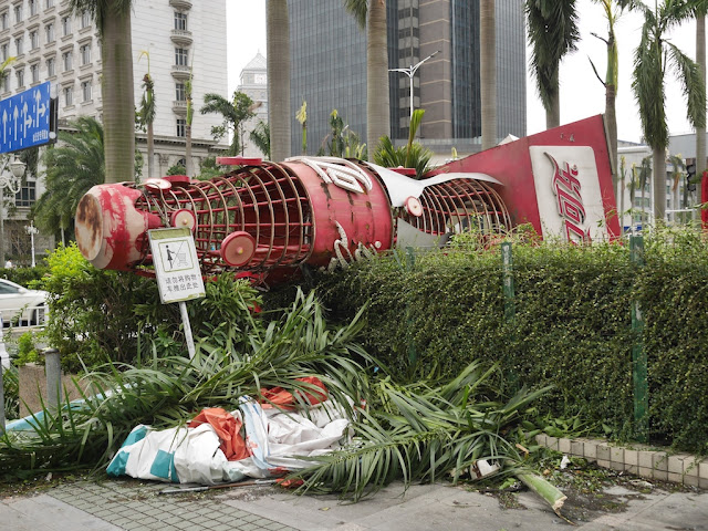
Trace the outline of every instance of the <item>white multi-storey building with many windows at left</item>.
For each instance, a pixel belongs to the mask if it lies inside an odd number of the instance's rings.
[[[187,102],[185,83],[192,75],[192,100],[197,112],[192,123],[195,168],[205,157],[226,148],[217,145],[211,126],[217,115],[198,113],[207,92],[227,95],[226,3],[200,0],[134,0],[132,11],[135,104],[143,94],[148,61],[155,82],[157,106],[154,122],[155,176],[185,162]],[[0,98],[50,81],[59,97],[59,124],[65,127],[79,116],[102,117],[101,49],[93,20],[75,15],[67,0],[0,0],[0,61],[14,58],[0,83]],[[146,134],[137,133],[136,145],[144,154],[143,178],[147,177]],[[132,176],[126,176],[126,180]],[[8,223],[6,241],[20,240],[22,219],[43,191],[42,180],[30,176],[18,194],[18,207]],[[27,221],[24,221],[27,223]],[[19,229],[15,229],[18,226]],[[44,249],[42,247],[42,249]],[[12,253],[11,249],[8,252]]]

